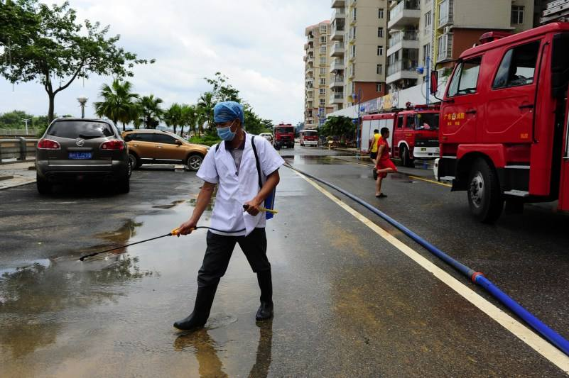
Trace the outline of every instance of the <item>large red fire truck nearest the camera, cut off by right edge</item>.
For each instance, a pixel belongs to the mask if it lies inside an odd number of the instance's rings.
[[[455,62],[443,96],[438,178],[467,191],[480,221],[499,218],[504,201],[521,211],[558,200],[568,211],[569,23],[480,42]]]

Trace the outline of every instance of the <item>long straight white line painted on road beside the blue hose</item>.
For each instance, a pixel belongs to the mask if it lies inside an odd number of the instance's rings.
[[[451,276],[440,267],[437,267],[432,262],[427,260],[425,257],[421,256],[418,252],[413,250],[412,248],[408,247],[408,245],[401,242],[401,240],[395,238],[393,235],[390,235],[386,230],[377,226],[375,223],[370,221],[368,218],[363,216],[361,213],[355,211],[351,207],[347,206],[344,202],[337,199],[334,195],[327,191],[323,187],[320,187],[319,184],[314,182],[312,179],[305,177],[305,175],[294,171],[300,177],[305,179],[308,183],[310,183],[313,187],[318,189],[321,193],[327,196],[329,199],[335,202],[338,206],[342,209],[347,211],[348,213],[352,214],[357,220],[364,223],[366,226],[374,230],[375,233],[384,238],[387,242],[393,245],[395,248],[403,252],[405,255],[411,258],[411,260],[415,261],[418,265],[421,265],[423,269],[426,269],[428,272],[432,273],[433,276],[437,277],[446,284],[448,287],[453,289],[464,297],[467,301],[471,304],[475,305],[479,310],[486,313],[487,316],[494,319],[497,323],[499,323],[502,327],[509,330],[513,333],[517,338],[521,341],[529,345],[533,350],[536,350],[540,355],[545,357],[549,360],[553,365],[556,365],[560,369],[565,372],[565,374],[569,375],[569,357],[565,355],[563,352],[558,350],[555,346],[548,343],[546,340],[541,338],[538,334],[534,333],[533,330],[524,326],[524,324],[516,321],[516,319],[509,316],[509,314],[505,313],[494,304],[491,304],[489,301],[484,299],[482,296],[477,294],[472,289],[468,288],[465,284],[455,279],[455,277]]]

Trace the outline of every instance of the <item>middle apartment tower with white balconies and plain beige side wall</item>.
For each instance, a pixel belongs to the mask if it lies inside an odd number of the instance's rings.
[[[339,110],[386,93],[387,1],[332,0],[332,9],[330,100]]]

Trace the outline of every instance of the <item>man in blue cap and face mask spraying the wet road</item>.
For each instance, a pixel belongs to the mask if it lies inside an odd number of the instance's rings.
[[[207,232],[207,249],[197,274],[194,310],[187,318],[174,323],[179,330],[193,330],[205,325],[217,284],[227,270],[236,244],[257,274],[261,289],[256,320],[273,317],[271,264],[266,256],[266,216],[259,208],[280,181],[278,169],[284,160],[268,140],[255,138],[244,131],[241,104],[224,101],[215,105],[214,121],[222,142],[210,148],[197,171],[197,177],[204,180],[203,187],[192,216],[178,230],[181,235],[194,230],[217,186],[211,226],[223,232]]]

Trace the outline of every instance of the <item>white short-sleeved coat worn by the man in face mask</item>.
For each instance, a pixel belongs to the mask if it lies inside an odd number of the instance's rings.
[[[251,201],[259,193],[259,176],[257,175],[255,155],[251,147],[251,134],[245,133],[245,147],[239,175],[235,169],[235,161],[229,151],[225,149],[225,143],[220,143],[210,148],[205,155],[197,177],[217,185],[217,195],[211,218],[211,226],[219,230],[244,231],[240,233],[220,233],[212,230],[212,233],[220,235],[249,235],[252,230],[264,227],[265,213],[260,212],[251,216],[243,211],[243,205]],[[281,155],[273,148],[268,140],[260,136],[255,137],[259,165],[261,167],[261,179],[263,183],[266,177],[275,172],[284,164]]]

